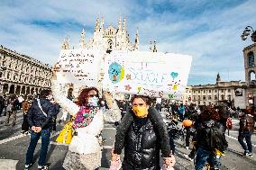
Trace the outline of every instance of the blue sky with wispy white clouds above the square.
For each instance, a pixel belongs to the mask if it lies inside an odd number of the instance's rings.
[[[92,37],[96,17],[105,28],[126,17],[130,39],[139,28],[140,48],[151,40],[163,52],[189,54],[193,63],[188,85],[244,81],[241,40],[247,25],[256,30],[255,0],[2,0],[0,44],[53,65],[65,36],[78,47],[80,31]]]

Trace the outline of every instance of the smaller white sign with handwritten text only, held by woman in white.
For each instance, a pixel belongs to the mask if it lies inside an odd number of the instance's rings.
[[[93,49],[62,49],[59,54],[59,84],[97,86],[101,53]]]

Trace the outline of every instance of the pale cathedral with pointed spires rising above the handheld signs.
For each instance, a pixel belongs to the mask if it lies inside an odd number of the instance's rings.
[[[156,44],[151,44],[151,50],[156,52]],[[86,32],[83,29],[81,32],[81,38],[79,42],[80,48],[87,49],[104,49],[106,52],[111,52],[112,50],[139,50],[139,31],[136,30],[134,43],[130,41],[129,33],[126,30],[126,19],[123,18],[123,23],[121,17],[119,17],[118,28],[114,28],[110,25],[108,28],[104,28],[104,19],[101,21],[96,19],[96,27],[94,31],[93,38],[86,42]],[[69,49],[69,39],[65,39],[62,44],[62,49]]]

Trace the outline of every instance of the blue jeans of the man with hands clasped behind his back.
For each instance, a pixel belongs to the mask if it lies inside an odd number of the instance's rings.
[[[38,161],[39,166],[45,165],[45,159],[50,144],[50,130],[41,130],[39,133],[35,133],[31,130],[31,142],[26,154],[26,165],[32,164],[34,149],[36,148],[37,142],[41,137],[41,152]]]

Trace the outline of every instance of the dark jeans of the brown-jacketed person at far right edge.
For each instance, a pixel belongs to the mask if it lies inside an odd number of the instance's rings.
[[[245,153],[251,153],[252,151],[251,134],[251,131],[239,132],[238,141],[242,145]],[[243,139],[245,139],[247,145],[244,143]]]

